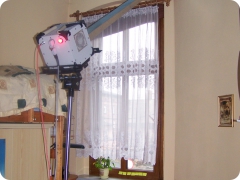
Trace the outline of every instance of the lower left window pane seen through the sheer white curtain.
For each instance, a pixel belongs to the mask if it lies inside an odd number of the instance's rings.
[[[116,139],[118,119],[121,116],[120,108],[122,106],[122,77],[104,77],[101,80],[102,89],[100,91],[101,98],[101,127],[104,134],[103,156],[114,151],[116,156]],[[115,149],[114,149],[115,148]]]

